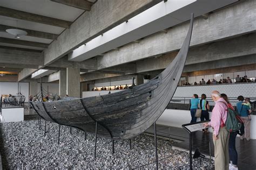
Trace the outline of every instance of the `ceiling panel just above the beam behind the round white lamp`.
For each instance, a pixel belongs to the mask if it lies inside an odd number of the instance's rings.
[[[49,32],[49,33],[53,33],[53,34],[60,34],[62,31],[65,30],[64,28],[61,28],[58,26],[51,26],[51,25],[46,25],[46,24],[29,22],[26,20],[21,20],[21,19],[16,19],[16,18],[0,16],[0,24],[2,24],[2,25],[16,27],[16,24],[17,24],[16,21],[18,21],[18,27],[22,28],[22,29]]]

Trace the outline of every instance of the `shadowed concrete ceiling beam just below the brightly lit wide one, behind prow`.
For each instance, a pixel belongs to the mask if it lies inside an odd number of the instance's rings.
[[[256,54],[255,39],[256,33],[250,33],[237,38],[217,41],[210,44],[190,48],[188,50],[188,56],[185,65],[203,65],[205,62],[209,61],[217,63],[218,60],[227,58],[230,58],[231,60],[226,64],[232,65],[232,58]],[[170,62],[172,62],[177,53],[178,52],[171,52],[157,58],[149,58],[137,61],[137,73],[164,69],[169,65]],[[191,66],[191,69],[196,70],[199,68]]]

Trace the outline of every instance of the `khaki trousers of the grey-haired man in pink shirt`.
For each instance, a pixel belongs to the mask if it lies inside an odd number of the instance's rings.
[[[215,170],[228,170],[228,140],[230,138],[230,132],[226,130],[226,127],[219,129],[218,139],[213,139],[214,144],[214,163]]]

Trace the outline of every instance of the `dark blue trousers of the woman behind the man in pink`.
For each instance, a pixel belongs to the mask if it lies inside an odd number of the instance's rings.
[[[233,165],[237,165],[237,150],[235,149],[235,138],[237,137],[237,132],[230,133],[230,140],[228,141],[228,154],[230,155],[230,160]]]

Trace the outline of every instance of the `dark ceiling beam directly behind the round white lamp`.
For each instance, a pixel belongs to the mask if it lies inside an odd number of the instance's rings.
[[[0,32],[5,31],[7,29],[16,29],[16,27],[0,24]],[[22,28],[18,28],[18,29],[28,32],[28,34],[26,36],[30,36],[30,37],[38,37],[38,38],[45,38],[45,39],[51,39],[51,40],[55,40],[58,37],[58,34],[52,34],[52,33],[48,33],[48,32],[28,30],[28,29],[22,29]]]

